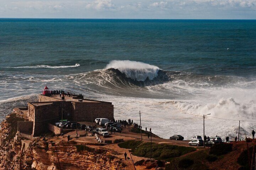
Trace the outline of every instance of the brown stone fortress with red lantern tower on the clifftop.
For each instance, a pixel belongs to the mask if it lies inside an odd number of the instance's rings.
[[[38,95],[38,102],[30,102],[26,108],[14,108],[13,111],[26,119],[18,122],[18,132],[27,134],[27,138],[39,136],[48,129],[55,134],[61,133],[54,123],[62,119],[76,122],[94,121],[96,118],[114,120],[111,102],[84,99],[82,94],[52,94],[47,87]]]

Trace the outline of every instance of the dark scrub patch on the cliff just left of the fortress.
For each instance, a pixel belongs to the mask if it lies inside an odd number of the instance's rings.
[[[24,121],[23,118],[17,117],[15,113],[11,113],[9,117],[6,119],[7,123],[11,124],[10,132],[8,136],[5,138],[3,143],[6,143],[7,141],[10,141],[13,139],[17,133],[18,129],[18,121]]]

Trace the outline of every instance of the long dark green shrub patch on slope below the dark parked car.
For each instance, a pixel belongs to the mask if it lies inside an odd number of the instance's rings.
[[[195,151],[192,147],[182,147],[169,144],[156,144],[150,142],[143,143],[142,141],[126,141],[118,144],[119,147],[132,149],[133,155],[147,158],[154,158],[156,160],[170,161],[171,158],[184,155]],[[151,149],[152,148],[152,149]]]

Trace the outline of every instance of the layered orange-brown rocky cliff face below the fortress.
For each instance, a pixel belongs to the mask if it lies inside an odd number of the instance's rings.
[[[23,139],[17,138],[14,141],[14,138],[11,136],[14,133],[13,123],[13,121],[7,120],[1,123],[1,170],[123,169],[122,163],[114,156],[116,153],[112,150],[107,150],[100,146],[79,144],[74,141],[55,141],[54,138],[47,138],[47,140],[37,138],[31,141],[32,146],[23,152],[20,161]]]

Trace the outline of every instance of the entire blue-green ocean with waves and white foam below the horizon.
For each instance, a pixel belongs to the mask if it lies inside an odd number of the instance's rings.
[[[256,20],[0,19],[0,121],[50,90],[162,138],[256,130]],[[210,115],[209,115],[210,114]],[[203,119],[203,115],[205,119]]]

